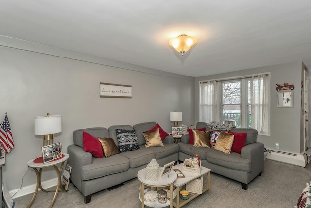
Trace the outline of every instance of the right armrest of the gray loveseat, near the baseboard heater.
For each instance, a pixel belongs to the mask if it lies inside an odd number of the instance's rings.
[[[264,145],[260,142],[245,145],[241,149],[241,158],[249,159],[252,171],[260,174],[264,170]]]

